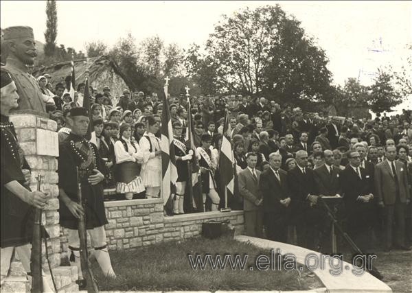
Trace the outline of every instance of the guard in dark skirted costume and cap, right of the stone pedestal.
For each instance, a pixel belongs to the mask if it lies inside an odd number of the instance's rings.
[[[78,267],[79,278],[82,280],[78,219],[80,214],[84,214],[85,225],[91,236],[91,246],[95,249],[94,256],[103,273],[114,278],[116,275],[108,255],[104,230],[104,224],[108,223],[103,202],[104,161],[98,148],[84,138],[89,126],[87,110],[82,107],[72,108],[70,117],[73,121],[71,133],[59,145],[60,226],[69,230],[70,261]],[[81,182],[84,209],[82,203],[78,202],[76,167]],[[80,285],[84,283],[81,282]]]

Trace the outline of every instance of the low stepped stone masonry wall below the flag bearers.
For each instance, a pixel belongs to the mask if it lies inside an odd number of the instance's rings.
[[[105,202],[108,224],[106,237],[109,250],[124,250],[140,246],[187,239],[201,235],[202,223],[209,220],[229,220],[236,235],[243,231],[243,211],[207,212],[163,216],[163,200],[119,200]],[[67,235],[67,232],[63,234]],[[62,247],[67,243],[62,242]]]

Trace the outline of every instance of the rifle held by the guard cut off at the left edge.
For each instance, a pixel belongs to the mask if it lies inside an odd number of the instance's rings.
[[[37,191],[41,189],[41,175],[37,175]],[[30,270],[32,272],[32,289],[30,292],[43,292],[43,276],[41,262],[41,209],[34,209],[34,226],[33,226],[33,241],[32,255],[30,255]]]

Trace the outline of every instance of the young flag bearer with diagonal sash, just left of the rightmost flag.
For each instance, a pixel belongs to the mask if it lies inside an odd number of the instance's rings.
[[[217,211],[220,198],[216,191],[216,181],[214,180],[214,172],[216,170],[216,159],[212,158],[210,149],[211,136],[203,134],[201,137],[202,147],[197,148],[199,156],[199,165],[201,166],[202,178],[202,195],[203,195],[203,211],[205,211],[206,196],[211,199],[211,210]]]

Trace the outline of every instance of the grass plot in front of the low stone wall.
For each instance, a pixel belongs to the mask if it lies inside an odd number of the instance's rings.
[[[192,270],[187,255],[249,255],[245,270]],[[323,287],[317,277],[297,270],[249,270],[257,255],[268,250],[229,238],[194,238],[165,242],[136,250],[111,252],[117,279],[106,279],[93,261],[100,290],[310,290]]]

